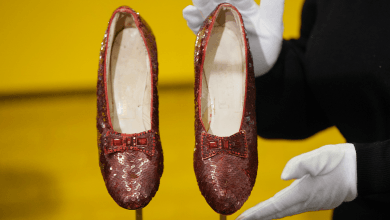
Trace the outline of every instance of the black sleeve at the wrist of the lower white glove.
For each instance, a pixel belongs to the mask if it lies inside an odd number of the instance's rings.
[[[354,143],[357,164],[357,192],[371,200],[388,201],[390,196],[390,140]]]

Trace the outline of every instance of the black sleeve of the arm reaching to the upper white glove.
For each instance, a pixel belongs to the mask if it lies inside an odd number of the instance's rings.
[[[284,40],[274,67],[256,78],[257,133],[264,138],[304,139],[332,124],[305,80],[304,55],[315,25],[316,0],[302,9],[301,37]]]

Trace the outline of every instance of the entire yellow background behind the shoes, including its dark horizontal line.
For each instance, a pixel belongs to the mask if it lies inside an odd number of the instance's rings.
[[[259,3],[259,1],[257,1]],[[286,0],[285,38],[299,36],[303,0]],[[129,5],[157,38],[165,169],[144,219],[218,219],[192,168],[195,35],[189,0],[0,1],[0,219],[135,219],[108,195],[98,168],[95,84],[111,13]],[[303,141],[259,139],[259,171],[245,209],[291,184],[292,157],[345,140],[327,129]],[[331,211],[286,219],[330,219]]]

